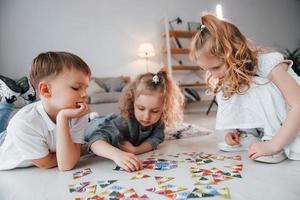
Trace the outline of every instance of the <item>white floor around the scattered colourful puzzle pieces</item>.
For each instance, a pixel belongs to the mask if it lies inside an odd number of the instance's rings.
[[[215,125],[215,112],[209,116],[204,113],[186,113],[185,122],[195,123],[199,126],[213,129]],[[218,151],[217,143],[223,138],[222,134],[211,134],[195,138],[166,141],[157,152],[164,153],[162,158],[176,160],[176,158],[165,157],[168,154],[179,152],[204,151],[222,155],[241,155],[241,161],[224,160],[214,161],[198,167],[210,169],[211,167],[224,168],[226,164],[244,165],[241,172],[243,178],[234,178],[220,182],[215,185],[217,188],[228,187],[231,199],[238,200],[299,200],[300,199],[300,162],[286,160],[279,164],[262,164],[250,160],[246,152],[223,153]],[[148,154],[140,155],[146,158]],[[115,172],[112,169],[115,164],[107,159],[95,156],[82,158],[74,170],[59,172],[57,168],[41,170],[35,167],[27,169],[16,169],[11,171],[0,171],[0,200],[17,199],[74,199],[76,197],[87,197],[84,193],[70,193],[68,185],[82,181],[97,181],[107,179],[118,179],[115,185],[133,187],[139,195],[147,194],[151,199],[167,199],[164,196],[147,192],[145,189],[155,187],[153,176],[174,176],[170,184],[182,186],[192,190],[195,178],[191,178],[189,168],[195,166],[191,163],[179,163],[178,168],[168,171],[143,170],[150,175],[148,180],[130,180],[135,173]],[[73,173],[84,168],[91,168],[92,174],[73,180]],[[101,190],[102,191],[102,190]],[[99,188],[97,189],[99,191]],[[220,197],[207,197],[206,199],[222,199]]]

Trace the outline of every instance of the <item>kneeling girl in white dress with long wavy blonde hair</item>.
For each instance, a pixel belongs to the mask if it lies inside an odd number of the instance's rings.
[[[216,129],[228,132],[219,148],[248,150],[260,162],[300,160],[300,78],[292,61],[253,46],[228,21],[205,14],[201,22],[190,55],[216,94]]]

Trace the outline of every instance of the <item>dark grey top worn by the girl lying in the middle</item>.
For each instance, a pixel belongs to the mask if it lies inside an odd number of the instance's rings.
[[[153,149],[164,141],[164,123],[157,123],[142,127],[135,118],[125,120],[120,115],[111,114],[93,119],[85,131],[85,141],[88,150],[97,140],[104,140],[114,147],[119,147],[119,142],[128,140],[134,146],[143,142],[149,143]]]

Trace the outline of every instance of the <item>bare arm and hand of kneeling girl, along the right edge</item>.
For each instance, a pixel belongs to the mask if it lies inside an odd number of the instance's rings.
[[[269,79],[279,88],[284,99],[290,106],[285,122],[272,140],[256,143],[249,149],[249,156],[255,159],[263,155],[273,155],[291,142],[300,131],[300,86],[288,74],[288,65],[281,63],[270,73]]]

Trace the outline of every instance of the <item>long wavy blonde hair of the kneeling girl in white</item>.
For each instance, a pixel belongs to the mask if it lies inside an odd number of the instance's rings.
[[[222,59],[227,66],[225,75],[218,80],[208,73],[208,89],[213,93],[222,91],[225,98],[247,91],[257,71],[257,54],[260,50],[254,49],[240,30],[228,21],[211,14],[203,15],[201,21],[205,27],[193,38],[191,59],[197,61],[199,50],[207,43],[208,53]]]

